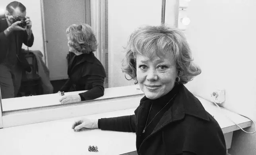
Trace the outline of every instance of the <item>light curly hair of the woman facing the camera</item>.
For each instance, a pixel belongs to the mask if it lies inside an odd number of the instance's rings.
[[[138,54],[149,58],[165,57],[167,53],[171,54],[178,73],[176,83],[186,84],[201,74],[200,67],[193,62],[184,34],[166,25],[138,28],[130,35],[125,52],[122,71],[136,80],[135,83],[138,83],[136,79],[136,56]]]

